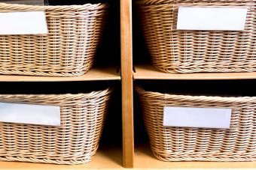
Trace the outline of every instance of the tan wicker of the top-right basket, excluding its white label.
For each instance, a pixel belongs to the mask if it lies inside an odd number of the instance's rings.
[[[155,67],[166,73],[256,71],[254,0],[142,0],[145,40]],[[176,30],[179,6],[248,6],[245,31]]]

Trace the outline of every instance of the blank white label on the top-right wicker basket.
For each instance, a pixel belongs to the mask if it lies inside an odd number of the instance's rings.
[[[178,7],[179,30],[245,30],[248,7]]]

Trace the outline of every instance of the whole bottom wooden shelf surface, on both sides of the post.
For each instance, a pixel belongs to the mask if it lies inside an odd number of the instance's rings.
[[[105,148],[97,151],[90,163],[65,166],[44,163],[0,162],[0,169],[123,169],[122,153],[119,148]],[[256,163],[215,162],[163,162],[154,158],[148,145],[135,150],[134,169],[256,169]]]

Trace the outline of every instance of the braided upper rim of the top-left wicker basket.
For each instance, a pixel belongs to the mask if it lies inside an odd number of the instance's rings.
[[[108,3],[74,4],[74,5],[30,5],[30,4],[6,4],[0,2],[0,10],[99,10],[108,7]]]

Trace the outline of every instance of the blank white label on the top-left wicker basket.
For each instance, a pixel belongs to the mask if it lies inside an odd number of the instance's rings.
[[[47,34],[44,11],[0,13],[0,34]]]

